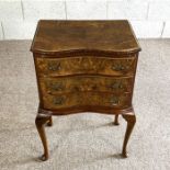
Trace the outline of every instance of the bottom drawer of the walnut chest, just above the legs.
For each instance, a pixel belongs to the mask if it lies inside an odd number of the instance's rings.
[[[43,98],[44,109],[58,110],[80,106],[110,106],[124,109],[131,104],[131,93],[115,95],[112,93],[80,92],[52,95]]]

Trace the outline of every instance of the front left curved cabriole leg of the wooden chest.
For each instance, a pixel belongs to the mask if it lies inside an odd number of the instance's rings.
[[[42,144],[44,147],[44,155],[41,157],[41,160],[43,161],[48,159],[47,140],[46,140],[46,135],[45,135],[45,129],[44,129],[44,124],[46,124],[47,121],[49,121],[49,116],[47,115],[37,114],[35,118],[35,125],[36,125],[37,132],[39,134]]]

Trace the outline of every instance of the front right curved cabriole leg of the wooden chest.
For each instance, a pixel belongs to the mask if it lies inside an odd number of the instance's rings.
[[[128,143],[129,136],[132,134],[132,131],[134,128],[134,125],[136,123],[136,116],[135,116],[134,111],[123,114],[122,116],[127,122],[127,127],[126,127],[125,138],[124,138],[124,143],[123,143],[123,149],[122,149],[122,156],[124,158],[127,158],[126,147],[127,147],[127,143]]]

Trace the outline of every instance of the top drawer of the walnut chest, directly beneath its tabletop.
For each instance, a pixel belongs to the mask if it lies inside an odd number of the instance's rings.
[[[135,72],[136,58],[67,57],[35,58],[39,76],[67,76],[94,73],[105,76],[132,76]]]

